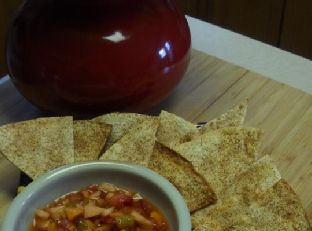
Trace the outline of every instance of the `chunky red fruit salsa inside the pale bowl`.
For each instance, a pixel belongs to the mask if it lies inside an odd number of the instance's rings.
[[[101,183],[35,211],[28,231],[169,231],[164,215],[139,193]]]

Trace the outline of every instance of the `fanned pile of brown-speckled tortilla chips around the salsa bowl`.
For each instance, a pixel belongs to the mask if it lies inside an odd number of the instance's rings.
[[[97,159],[148,167],[180,191],[195,231],[310,230],[298,196],[258,153],[263,131],[243,127],[246,110],[244,101],[201,126],[166,111],[39,118],[0,127],[0,152],[32,179]]]

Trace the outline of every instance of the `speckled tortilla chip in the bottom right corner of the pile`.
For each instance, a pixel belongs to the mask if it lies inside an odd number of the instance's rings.
[[[205,211],[205,212],[203,212]],[[238,212],[239,211],[239,212]],[[194,230],[300,230],[311,229],[298,196],[285,180],[248,203],[231,201],[192,215]],[[221,228],[220,228],[221,226]]]

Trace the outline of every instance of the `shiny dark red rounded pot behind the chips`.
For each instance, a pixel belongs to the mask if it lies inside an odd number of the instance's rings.
[[[42,110],[142,112],[181,80],[190,43],[172,0],[28,0],[7,60],[17,89]]]

